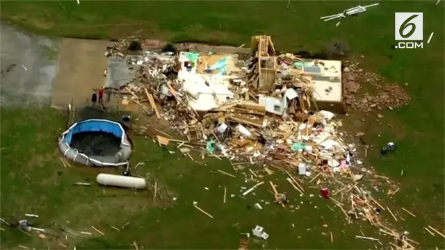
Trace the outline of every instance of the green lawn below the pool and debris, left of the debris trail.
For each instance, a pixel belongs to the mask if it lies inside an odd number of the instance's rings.
[[[353,239],[357,224],[348,225],[341,213],[329,210],[325,206],[327,202],[318,198],[316,189],[308,188],[306,197],[300,197],[284,181],[285,174],[275,172],[264,181],[278,184],[280,192],[287,192],[293,205],[300,209],[261,202],[273,200],[272,194],[266,191],[268,185],[242,199],[238,197],[241,187],[250,188],[255,182],[245,183],[241,173],[232,178],[216,171],[233,173],[227,162],[209,158],[205,165],[193,163],[187,156],[179,152],[172,155],[151,139],[142,137],[133,138],[136,150],[131,163],[145,165],[133,170],[133,174],[148,176],[152,185],[158,182],[163,199],[154,202],[149,190],[75,186],[73,183],[78,181],[95,183],[95,176],[100,172],[119,173],[113,169],[63,167],[58,160],[56,140],[65,124],[65,117],[49,108],[1,110],[1,217],[34,213],[40,215],[38,219],[31,219],[38,227],[58,233],[62,225],[92,233],[95,231],[90,226],[95,226],[105,233],[104,236],[95,233],[91,238],[69,238],[70,246],[78,249],[128,249],[133,240],[145,249],[234,249],[238,247],[238,233],[250,232],[256,224],[264,226],[270,238],[267,244],[252,242],[252,248],[259,249],[263,244],[281,249],[364,246],[360,240]],[[224,187],[227,188],[226,203],[223,203]],[[177,197],[176,201],[173,197]],[[196,210],[193,201],[214,219]],[[257,202],[263,210],[253,208]],[[127,222],[130,224],[120,232],[111,228],[121,228]],[[324,228],[323,224],[329,226]],[[2,249],[17,249],[18,244],[37,249],[44,249],[46,245],[51,249],[58,247],[54,240],[39,240],[36,235],[29,238],[14,228],[2,227],[6,228],[1,232]],[[334,244],[328,236],[330,231],[334,233]],[[373,233],[368,227],[363,231]],[[323,232],[326,235],[322,235]]]

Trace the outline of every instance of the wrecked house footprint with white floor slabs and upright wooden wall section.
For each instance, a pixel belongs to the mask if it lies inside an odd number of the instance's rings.
[[[161,103],[176,99],[193,112],[214,112],[225,103],[249,101],[264,107],[266,113],[286,116],[314,110],[313,101],[341,103],[339,61],[308,60],[291,53],[275,55],[273,42],[265,35],[252,37],[251,51],[241,58],[211,50],[181,51],[172,56],[145,51],[131,62],[141,69],[128,87],[133,97],[147,89]]]

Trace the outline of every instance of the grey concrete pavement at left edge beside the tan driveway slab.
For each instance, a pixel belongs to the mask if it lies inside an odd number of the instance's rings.
[[[0,24],[1,106],[50,101],[59,40],[29,35]]]

